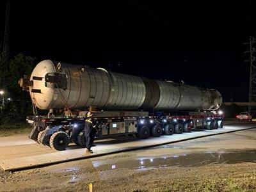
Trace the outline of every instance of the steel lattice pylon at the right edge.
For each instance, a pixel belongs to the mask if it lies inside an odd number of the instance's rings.
[[[252,105],[253,102],[256,102],[256,58],[253,54],[256,52],[256,38],[250,36],[248,42],[244,45],[250,45],[250,49],[244,53],[250,53],[250,58],[246,61],[250,62],[250,84],[249,84],[249,102],[248,102],[248,113],[256,112],[255,106]]]

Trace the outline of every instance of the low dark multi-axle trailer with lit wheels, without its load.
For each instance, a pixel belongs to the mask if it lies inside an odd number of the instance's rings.
[[[64,150],[68,143],[85,147],[83,116],[28,116],[33,125],[30,138],[56,150]],[[134,136],[146,139],[163,134],[191,132],[192,128],[218,129],[223,127],[223,115],[215,113],[188,113],[184,115],[148,116],[145,112],[106,111],[93,113],[97,138],[109,136]],[[72,130],[80,129],[76,140],[70,140]]]

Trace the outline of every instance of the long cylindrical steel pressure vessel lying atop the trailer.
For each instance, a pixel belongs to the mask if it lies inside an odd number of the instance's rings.
[[[20,85],[40,109],[216,110],[222,103],[217,90],[51,60],[38,63]]]

